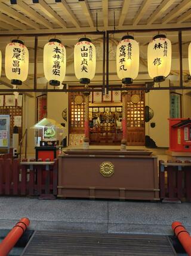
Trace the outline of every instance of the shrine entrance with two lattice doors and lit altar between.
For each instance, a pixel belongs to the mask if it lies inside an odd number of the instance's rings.
[[[72,87],[74,89],[74,87]],[[79,88],[79,87],[78,87]],[[77,146],[84,139],[84,97],[82,92],[69,93],[69,145]],[[103,97],[90,95],[90,144],[120,145],[122,139],[121,92]],[[127,92],[127,144],[144,145],[144,91]]]

